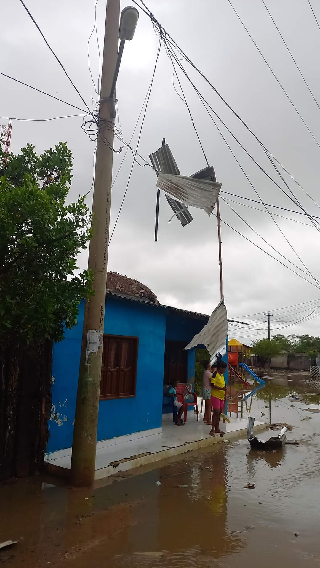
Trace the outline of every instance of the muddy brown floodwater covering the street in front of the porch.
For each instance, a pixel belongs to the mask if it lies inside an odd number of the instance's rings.
[[[266,454],[252,452],[247,440],[214,445],[139,468],[130,478],[109,478],[94,490],[41,478],[3,486],[0,541],[18,543],[0,550],[0,562],[12,568],[319,566],[317,411],[320,392],[310,383],[273,375],[257,391],[251,415],[292,425],[287,438],[300,440],[298,446]],[[255,488],[243,488],[248,482]]]

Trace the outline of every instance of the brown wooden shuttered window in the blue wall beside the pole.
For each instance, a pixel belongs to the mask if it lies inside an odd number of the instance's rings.
[[[135,396],[137,359],[137,337],[103,337],[100,400]]]

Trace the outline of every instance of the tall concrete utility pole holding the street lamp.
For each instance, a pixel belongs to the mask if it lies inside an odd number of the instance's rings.
[[[93,236],[88,261],[88,268],[94,273],[94,296],[85,303],[71,458],[71,482],[75,486],[89,486],[94,481],[114,142],[114,119],[111,118],[109,94],[118,55],[119,12],[120,0],[108,0],[93,189]],[[99,341],[101,346],[98,348]]]

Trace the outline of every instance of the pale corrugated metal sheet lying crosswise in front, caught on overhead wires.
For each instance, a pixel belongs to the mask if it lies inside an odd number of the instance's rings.
[[[157,187],[187,205],[205,210],[210,215],[219,197],[221,183],[159,173]]]

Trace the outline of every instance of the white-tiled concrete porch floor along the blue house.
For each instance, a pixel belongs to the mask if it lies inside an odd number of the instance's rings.
[[[146,432],[138,432],[130,436],[104,440],[97,444],[97,454],[95,458],[94,479],[103,479],[110,475],[115,475],[119,471],[128,471],[148,463],[164,460],[165,458],[178,456],[190,450],[204,448],[211,444],[222,442],[220,436],[210,436],[210,427],[203,423],[203,415],[199,415],[197,422],[196,415],[188,412],[188,421],[184,426],[178,427],[173,424],[172,415],[164,415],[161,428]],[[221,429],[226,431],[226,438],[241,437],[247,433],[247,416],[241,418],[230,418],[231,423],[221,423]],[[255,432],[267,428],[267,423],[256,420]],[[143,437],[142,437],[143,436]],[[129,438],[129,440],[128,440]],[[71,448],[48,454],[45,462],[48,465],[59,466],[65,469],[60,470],[60,474],[68,477],[68,470],[71,462]]]

